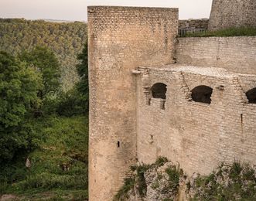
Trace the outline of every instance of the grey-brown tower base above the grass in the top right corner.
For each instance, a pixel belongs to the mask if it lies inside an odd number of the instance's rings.
[[[255,0],[213,0],[210,30],[256,26]]]

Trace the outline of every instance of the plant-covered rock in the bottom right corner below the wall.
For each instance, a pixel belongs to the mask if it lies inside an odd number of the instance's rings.
[[[217,172],[196,179],[193,200],[255,200],[255,171],[249,165],[221,164]]]

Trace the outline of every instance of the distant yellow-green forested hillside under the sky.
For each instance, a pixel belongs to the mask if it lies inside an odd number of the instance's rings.
[[[77,54],[87,39],[84,22],[46,22],[43,20],[0,19],[0,50],[18,54],[35,46],[52,49],[61,64],[63,89],[78,80],[75,65]]]

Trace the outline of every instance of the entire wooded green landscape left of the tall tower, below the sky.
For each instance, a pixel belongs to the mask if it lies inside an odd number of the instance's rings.
[[[0,26],[0,200],[87,200],[86,26]]]

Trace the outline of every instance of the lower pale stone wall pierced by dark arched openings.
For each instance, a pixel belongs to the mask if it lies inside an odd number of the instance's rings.
[[[209,174],[220,162],[255,163],[256,104],[245,93],[256,87],[256,75],[220,68],[166,66],[141,69],[137,75],[138,160],[166,156],[189,175]],[[166,102],[145,93],[155,83],[167,85]],[[211,103],[195,102],[190,91],[213,89]],[[149,103],[149,104],[148,104]]]

